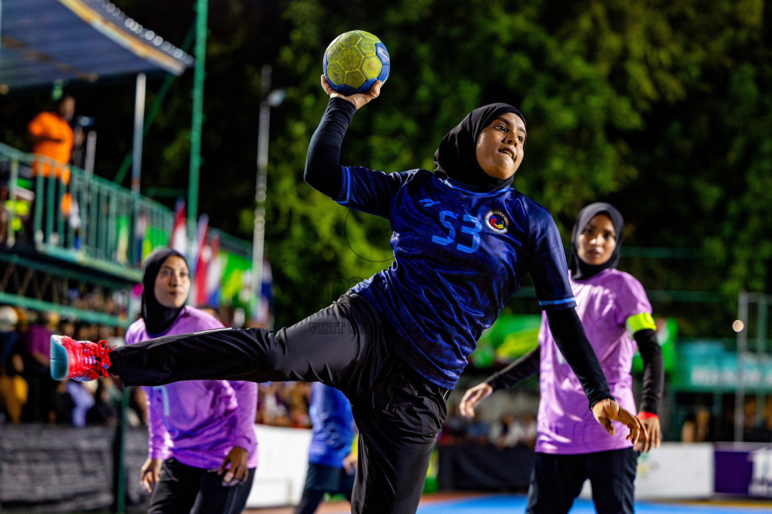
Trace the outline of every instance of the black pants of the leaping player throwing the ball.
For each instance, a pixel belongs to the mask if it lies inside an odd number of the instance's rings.
[[[449,390],[405,363],[374,307],[349,292],[276,332],[196,332],[116,348],[110,373],[126,385],[228,379],[321,381],[343,391],[359,429],[351,511],[415,512]]]

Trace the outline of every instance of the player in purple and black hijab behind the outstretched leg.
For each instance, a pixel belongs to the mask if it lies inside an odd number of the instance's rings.
[[[127,344],[223,328],[211,314],[185,306],[190,277],[178,252],[148,255],[142,283],[142,317],[129,327]],[[143,389],[149,455],[141,480],[152,492],[147,512],[242,512],[257,467],[257,384],[196,380]]]

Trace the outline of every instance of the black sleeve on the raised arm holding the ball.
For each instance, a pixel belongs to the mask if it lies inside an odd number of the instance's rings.
[[[340,144],[356,112],[357,108],[348,100],[331,98],[308,145],[303,178],[313,189],[331,198],[340,197]]]

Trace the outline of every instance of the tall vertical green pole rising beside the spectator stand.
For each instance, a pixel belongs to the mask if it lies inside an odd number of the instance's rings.
[[[191,123],[191,162],[188,180],[188,259],[193,258],[196,218],[198,217],[198,173],[201,169],[201,126],[204,124],[204,63],[208,8],[208,0],[196,0],[193,120]]]

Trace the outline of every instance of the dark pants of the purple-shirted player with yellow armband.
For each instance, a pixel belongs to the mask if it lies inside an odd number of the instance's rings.
[[[527,514],[566,514],[585,479],[598,514],[633,514],[638,452],[632,448],[581,455],[537,453]]]

